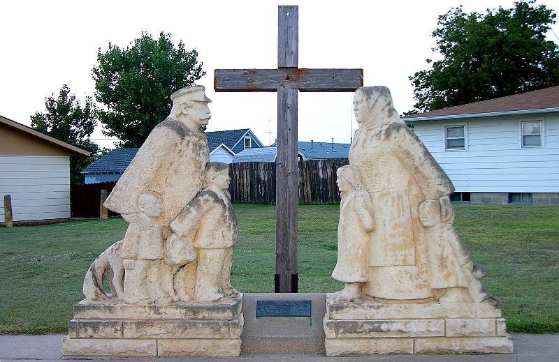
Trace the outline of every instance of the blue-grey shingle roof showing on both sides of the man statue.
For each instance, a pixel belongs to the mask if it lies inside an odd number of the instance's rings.
[[[220,144],[225,144],[230,149],[238,142],[249,128],[240,130],[218,130],[206,132],[208,135],[208,148],[212,152]],[[131,160],[136,156],[138,149],[113,149],[105,156],[99,158],[91,165],[85,167],[84,174],[122,174]]]

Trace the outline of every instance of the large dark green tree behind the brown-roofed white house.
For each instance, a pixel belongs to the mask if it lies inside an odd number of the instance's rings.
[[[485,15],[451,8],[433,31],[442,60],[411,77],[416,110],[429,111],[559,84],[559,47],[546,40],[556,14],[534,1]],[[408,112],[409,113],[414,113]]]

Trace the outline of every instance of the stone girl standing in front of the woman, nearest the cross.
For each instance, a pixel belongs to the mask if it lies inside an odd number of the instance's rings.
[[[368,241],[374,227],[372,204],[361,183],[358,167],[337,169],[340,189],[340,223],[337,225],[337,263],[332,278],[345,283],[333,296],[335,301],[361,299],[361,286],[368,280]]]

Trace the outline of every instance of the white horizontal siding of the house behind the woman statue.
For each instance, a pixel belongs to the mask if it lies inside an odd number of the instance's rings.
[[[521,147],[520,122],[542,120],[543,146]],[[444,126],[466,124],[467,150],[444,150]],[[456,191],[559,192],[559,114],[423,121],[414,132],[454,183]]]

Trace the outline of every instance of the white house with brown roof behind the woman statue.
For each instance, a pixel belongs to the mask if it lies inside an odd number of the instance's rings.
[[[403,117],[453,201],[559,204],[559,86]]]

